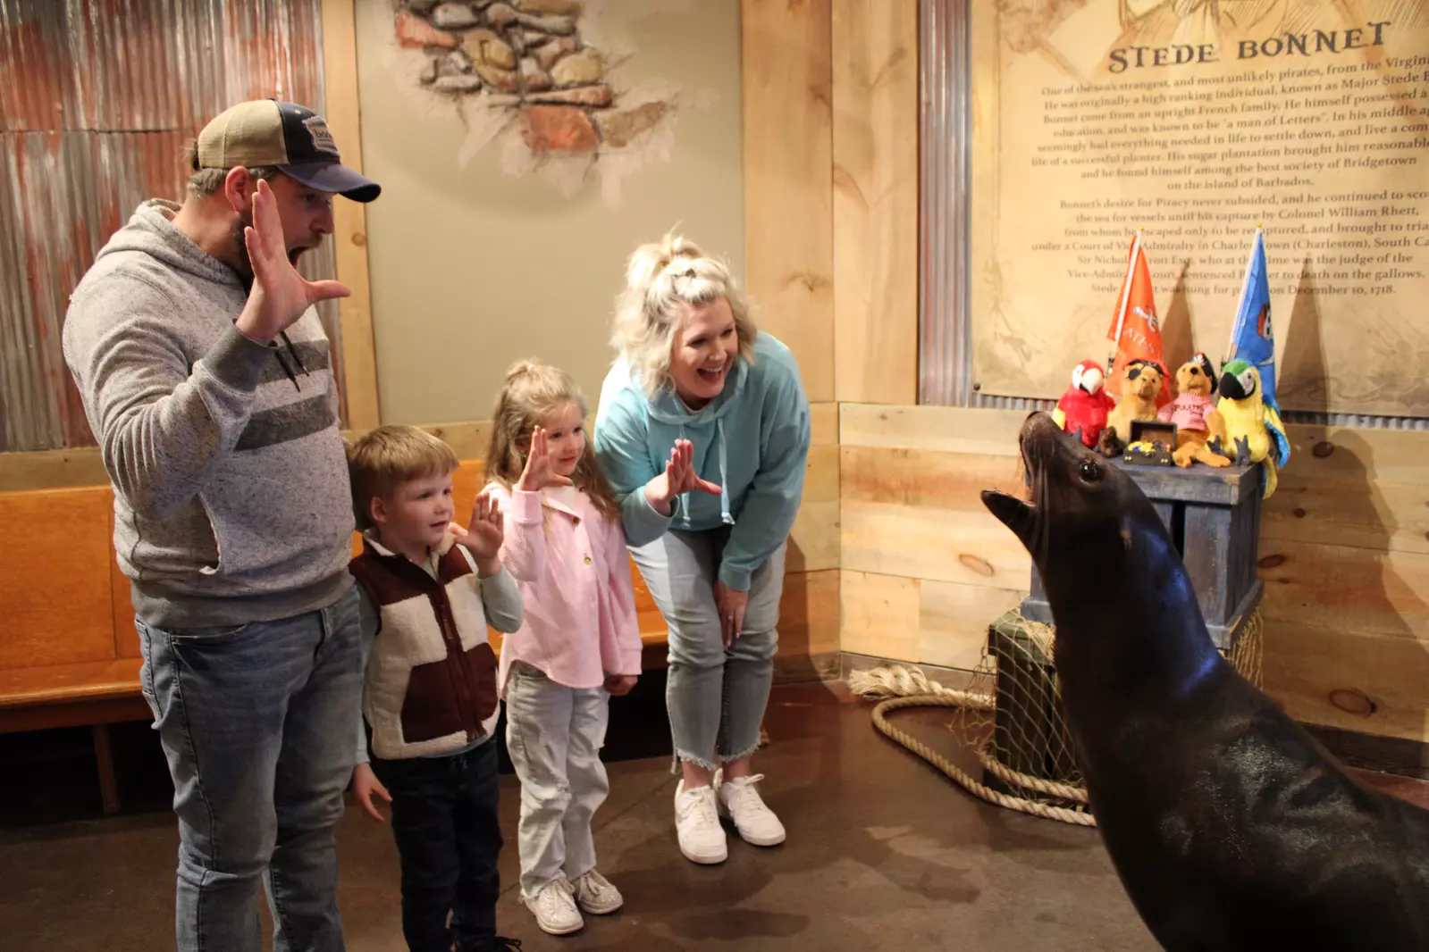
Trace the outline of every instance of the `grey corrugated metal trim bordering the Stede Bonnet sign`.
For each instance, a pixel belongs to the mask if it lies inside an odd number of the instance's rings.
[[[972,63],[969,4],[919,1],[920,69],[920,288],[919,402],[940,407],[1052,410],[1055,400],[993,397],[973,381],[969,294],[972,220]],[[1286,422],[1429,430],[1419,417],[1286,411]]]

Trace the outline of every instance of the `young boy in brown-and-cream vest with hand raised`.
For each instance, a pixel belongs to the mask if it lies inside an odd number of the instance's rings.
[[[506,952],[496,935],[496,655],[486,639],[522,627],[502,567],[502,514],[483,494],[452,525],[456,454],[416,427],[379,427],[347,452],[363,554],[366,681],[353,789],[374,819],[392,804],[402,856],[402,932],[413,952]],[[447,913],[452,925],[447,926]]]

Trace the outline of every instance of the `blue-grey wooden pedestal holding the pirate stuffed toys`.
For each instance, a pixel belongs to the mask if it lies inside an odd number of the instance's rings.
[[[1229,651],[1240,625],[1260,605],[1263,592],[1256,577],[1260,465],[1216,470],[1196,462],[1183,470],[1110,462],[1130,475],[1156,507],[1190,575],[1206,629],[1218,648]],[[1106,581],[1115,588],[1115,578]],[[1109,609],[1115,611],[1115,602]],[[1022,614],[1030,621],[1052,624],[1052,608],[1036,565]]]

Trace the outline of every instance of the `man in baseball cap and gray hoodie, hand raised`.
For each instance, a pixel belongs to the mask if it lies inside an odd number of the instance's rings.
[[[372,201],[327,126],[240,103],[70,298],[64,358],[114,487],[143,692],[174,782],[181,952],[343,948],[333,828],[362,694],[337,381],[294,267],[333,196]]]

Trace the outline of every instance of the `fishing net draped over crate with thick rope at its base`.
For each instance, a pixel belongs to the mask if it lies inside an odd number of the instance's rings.
[[[990,627],[982,661],[972,672],[959,672],[960,684],[930,681],[906,665],[883,665],[850,674],[849,687],[863,697],[885,698],[873,708],[873,725],[970,794],[1007,809],[1095,826],[1062,714],[1052,665],[1055,638],[1052,625],[1012,611]],[[1259,611],[1245,619],[1222,654],[1260,687]],[[929,707],[953,711],[947,726],[976,759],[980,776],[889,722],[887,715],[900,708]]]

